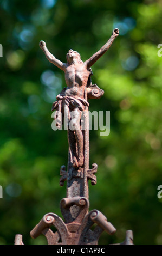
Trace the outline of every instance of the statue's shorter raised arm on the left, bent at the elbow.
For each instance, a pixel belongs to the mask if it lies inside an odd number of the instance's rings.
[[[58,68],[62,69],[63,71],[65,71],[65,63],[61,62],[59,59],[56,59],[55,56],[53,56],[53,54],[51,54],[47,47],[46,47],[46,42],[44,41],[40,41],[40,47],[43,50],[43,52],[46,55],[46,58],[49,60],[49,62],[53,63],[55,66],[57,66]]]

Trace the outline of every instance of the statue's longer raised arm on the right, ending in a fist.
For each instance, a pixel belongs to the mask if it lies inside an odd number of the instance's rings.
[[[107,41],[105,45],[101,47],[101,49],[94,53],[90,59],[86,60],[85,64],[87,65],[87,68],[90,68],[108,49],[111,47],[114,39],[119,35],[119,29],[115,28],[113,30],[111,38]]]

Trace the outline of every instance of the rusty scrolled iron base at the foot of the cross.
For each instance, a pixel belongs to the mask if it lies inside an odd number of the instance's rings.
[[[70,207],[73,205],[79,208],[79,214],[75,219],[70,212]],[[97,245],[104,230],[109,235],[113,235],[116,231],[100,211],[88,212],[89,202],[87,198],[63,198],[60,202],[60,208],[65,222],[56,214],[46,214],[30,232],[31,237],[36,238],[40,234],[44,234],[48,245]],[[97,226],[92,231],[90,228],[94,223]],[[50,229],[51,225],[57,229],[55,233]]]

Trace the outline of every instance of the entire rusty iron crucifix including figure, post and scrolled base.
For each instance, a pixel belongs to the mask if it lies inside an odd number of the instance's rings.
[[[98,245],[102,231],[113,235],[116,229],[107,221],[107,218],[98,210],[88,211],[88,180],[96,184],[97,164],[89,169],[89,117],[88,100],[99,99],[103,95],[96,84],[92,84],[91,66],[112,45],[119,35],[119,29],[114,29],[111,38],[101,49],[93,54],[86,62],[82,62],[80,54],[69,50],[67,63],[62,63],[51,54],[44,41],[40,42],[47,59],[64,71],[67,87],[57,95],[52,111],[55,111],[55,125],[59,128],[62,120],[67,120],[68,126],[68,167],[61,166],[60,186],[67,181],[67,195],[60,202],[60,209],[64,221],[54,213],[44,215],[42,220],[31,230],[34,239],[43,234],[48,245]],[[84,127],[82,129],[82,117]],[[92,231],[90,228],[96,223]],[[54,233],[50,227],[54,225]],[[126,232],[124,245],[133,244],[132,231]],[[16,235],[15,245],[23,245],[22,235]]]

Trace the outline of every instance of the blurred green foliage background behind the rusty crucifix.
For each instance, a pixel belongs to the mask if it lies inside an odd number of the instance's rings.
[[[90,111],[111,111],[111,132],[90,131],[90,164],[98,183],[89,185],[90,210],[98,209],[116,227],[100,245],[121,242],[132,229],[136,245],[162,244],[162,43],[161,1],[1,0],[0,43],[0,244],[15,234],[26,245],[46,244],[30,231],[47,212],[61,216],[60,166],[67,165],[66,131],[51,129],[51,103],[65,87],[61,70],[48,62],[40,40],[66,62],[70,48],[83,61],[120,36],[93,66],[92,82],[105,90],[90,100]],[[62,216],[61,216],[62,217]]]

